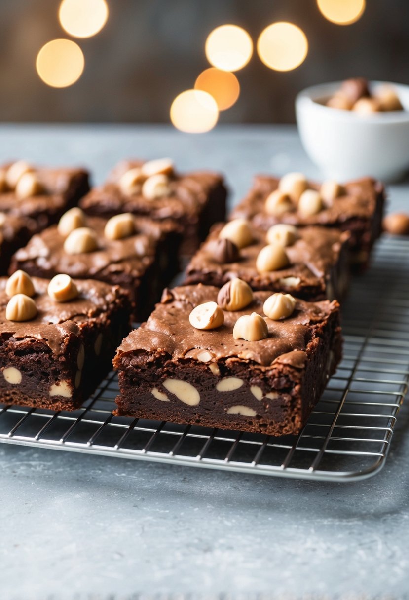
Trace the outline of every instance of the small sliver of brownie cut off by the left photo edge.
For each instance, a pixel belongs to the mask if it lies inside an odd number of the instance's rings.
[[[32,227],[28,219],[0,212],[0,275],[7,274],[11,257],[28,242]]]

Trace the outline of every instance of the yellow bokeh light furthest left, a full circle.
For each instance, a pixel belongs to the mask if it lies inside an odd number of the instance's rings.
[[[82,50],[71,40],[52,40],[37,55],[35,67],[44,83],[53,88],[66,88],[79,79],[84,70]]]

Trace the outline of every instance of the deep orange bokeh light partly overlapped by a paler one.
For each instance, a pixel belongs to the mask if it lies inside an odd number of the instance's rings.
[[[216,67],[202,71],[196,79],[194,89],[202,89],[212,95],[219,110],[226,110],[233,106],[240,94],[237,77],[230,71],[222,71]]]

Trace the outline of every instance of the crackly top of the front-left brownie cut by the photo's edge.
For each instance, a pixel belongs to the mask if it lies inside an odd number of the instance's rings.
[[[16,322],[5,317],[10,298],[5,293],[7,277],[0,277],[0,340],[39,340],[50,347],[53,353],[65,350],[67,336],[79,335],[81,324],[98,323],[109,317],[110,311],[122,301],[124,292],[118,286],[109,286],[102,281],[75,280],[79,296],[68,302],[56,302],[47,293],[49,280],[32,277],[35,295],[33,300],[37,315],[30,320]]]

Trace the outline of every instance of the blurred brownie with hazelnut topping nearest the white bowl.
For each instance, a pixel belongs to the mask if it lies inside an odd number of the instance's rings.
[[[292,175],[299,175],[297,184],[302,184],[298,189],[294,185],[294,194],[291,193],[291,182],[288,185],[288,177]],[[303,191],[308,193],[301,201]],[[276,223],[287,223],[348,231],[351,266],[362,271],[368,265],[372,245],[381,233],[384,202],[383,184],[370,177],[342,185],[336,182],[319,185],[307,181],[299,173],[288,173],[281,179],[257,175],[251,190],[233,209],[230,218],[244,217],[264,230]]]

